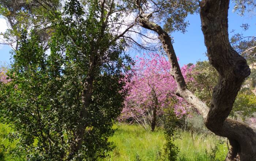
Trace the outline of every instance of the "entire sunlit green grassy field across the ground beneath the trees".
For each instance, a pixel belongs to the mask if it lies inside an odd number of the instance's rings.
[[[137,125],[117,123],[113,127],[116,133],[109,138],[116,146],[109,153],[110,157],[101,161],[158,161],[163,155],[165,138],[163,130],[155,132],[146,131]],[[24,161],[24,156],[15,154],[17,141],[10,142],[7,135],[12,132],[11,128],[0,123],[0,161]],[[227,145],[223,138],[211,134],[193,134],[189,131],[178,131],[181,139],[175,143],[178,145],[178,161],[209,161],[206,150],[210,152],[217,146],[217,158],[224,160],[227,154]],[[221,142],[222,143],[219,143]],[[7,149],[5,151],[4,149]],[[218,160],[212,160],[218,161]]]

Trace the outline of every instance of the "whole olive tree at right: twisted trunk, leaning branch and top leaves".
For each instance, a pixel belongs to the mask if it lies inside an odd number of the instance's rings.
[[[245,58],[229,43],[227,28],[229,0],[199,2],[207,56],[210,64],[219,74],[210,108],[188,90],[169,35],[173,26],[178,25],[181,30],[185,27],[184,18],[189,12],[195,11],[196,1],[150,0],[132,1],[132,4],[138,9],[138,24],[154,31],[162,43],[163,50],[169,58],[171,74],[177,83],[176,94],[197,108],[209,130],[229,139],[230,147],[226,160],[255,161],[256,133],[246,124],[227,118],[242,82],[251,73]],[[161,19],[158,16],[161,16]],[[163,24],[164,28],[160,24]]]

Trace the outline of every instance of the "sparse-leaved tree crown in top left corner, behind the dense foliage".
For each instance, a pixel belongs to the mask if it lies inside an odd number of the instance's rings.
[[[39,36],[43,49],[49,49],[48,40],[52,16],[61,8],[59,0],[1,0],[0,14],[8,22],[9,29],[3,33],[4,39],[1,43],[8,44],[14,50],[18,50],[18,45],[24,29],[33,29]]]

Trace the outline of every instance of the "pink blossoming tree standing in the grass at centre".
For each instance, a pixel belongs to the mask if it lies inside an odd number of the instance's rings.
[[[175,95],[176,83],[170,74],[170,63],[164,56],[155,53],[143,54],[136,57],[131,81],[127,84],[130,89],[125,99],[120,120],[137,122],[145,129],[151,127],[154,131],[158,125],[159,116],[171,101],[176,100],[174,111],[177,116],[186,114],[186,103]],[[182,67],[182,74],[186,78],[190,71],[187,66]]]

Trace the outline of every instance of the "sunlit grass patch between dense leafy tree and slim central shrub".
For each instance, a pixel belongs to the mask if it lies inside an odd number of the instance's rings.
[[[110,153],[111,161],[133,161],[136,155],[145,161],[155,161],[165,140],[163,131],[152,133],[136,125],[116,124],[118,129],[109,141],[116,148]]]

